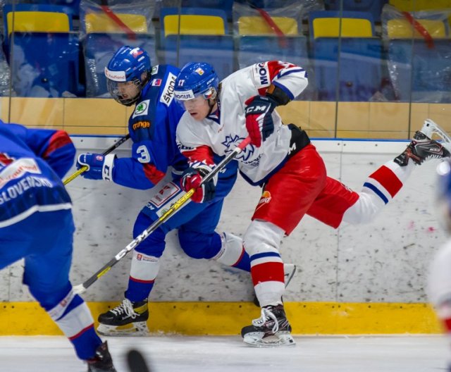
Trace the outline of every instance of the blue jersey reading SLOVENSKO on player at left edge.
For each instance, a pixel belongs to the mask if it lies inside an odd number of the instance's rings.
[[[61,178],[75,147],[63,130],[30,129],[0,120],[0,228],[36,211],[70,209]]]

